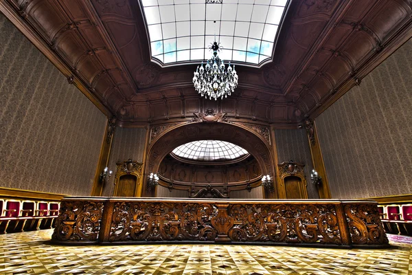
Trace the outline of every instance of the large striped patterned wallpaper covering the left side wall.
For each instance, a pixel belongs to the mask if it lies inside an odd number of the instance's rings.
[[[0,186],[90,195],[106,117],[0,14]]]

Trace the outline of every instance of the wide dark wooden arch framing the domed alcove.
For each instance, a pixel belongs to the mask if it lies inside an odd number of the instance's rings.
[[[275,165],[273,163],[271,149],[268,144],[262,140],[262,137],[241,126],[227,122],[192,122],[182,124],[163,133],[163,135],[158,137],[155,142],[152,142],[148,148],[145,175],[151,172],[157,172],[163,158],[174,148],[195,140],[223,140],[241,146],[255,157],[264,175],[268,173],[275,175]],[[146,192],[146,196],[148,197],[152,195],[151,192],[148,192],[146,177],[144,192]],[[277,190],[272,193],[266,192],[266,197],[277,197]]]

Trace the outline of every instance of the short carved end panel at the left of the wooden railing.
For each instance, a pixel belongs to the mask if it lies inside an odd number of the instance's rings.
[[[52,239],[56,241],[98,241],[103,200],[64,200]]]

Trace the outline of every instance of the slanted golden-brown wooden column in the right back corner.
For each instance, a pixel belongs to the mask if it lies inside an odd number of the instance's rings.
[[[320,199],[330,199],[330,188],[328,177],[326,176],[325,163],[323,162],[323,155],[321,151],[321,146],[319,144],[319,139],[317,136],[316,126],[314,121],[309,117],[305,118],[304,127],[308,133],[308,140],[310,146],[310,154],[312,155],[312,163],[314,170],[317,170],[319,176],[322,178],[322,183],[318,187],[319,198]]]

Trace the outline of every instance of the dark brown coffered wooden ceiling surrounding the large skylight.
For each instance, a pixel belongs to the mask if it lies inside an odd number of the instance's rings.
[[[319,115],[412,36],[411,0],[293,0],[273,62],[236,66],[236,94],[204,100],[195,65],[150,63],[138,0],[0,0],[0,10],[106,113],[124,124],[212,108],[296,126]]]

